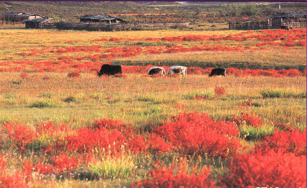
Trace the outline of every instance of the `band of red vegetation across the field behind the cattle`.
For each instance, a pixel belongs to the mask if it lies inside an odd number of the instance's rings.
[[[161,38],[97,38],[93,39],[91,45],[80,46],[75,45],[69,40],[65,43],[71,46],[65,47],[44,47],[39,50],[28,49],[26,52],[18,53],[16,58],[24,60],[0,61],[0,72],[93,72],[108,61],[116,58],[136,57],[141,55],[155,54],[176,54],[198,51],[255,51],[266,50],[267,48],[297,48],[305,47],[305,29],[286,30],[264,30],[264,31],[247,31],[240,34],[231,35],[188,35],[176,37]],[[81,42],[82,40],[80,40]],[[245,41],[248,45],[242,45],[240,42]],[[54,43],[62,41],[55,41]],[[89,41],[83,41],[89,42]],[[95,42],[93,45],[92,42]],[[103,43],[119,43],[120,42],[168,42],[165,45],[146,45],[146,46],[116,46],[105,47]],[[185,43],[193,45],[186,45]],[[201,44],[200,44],[201,43]],[[40,56],[43,60],[37,60]],[[42,58],[39,58],[42,59]],[[124,73],[142,73],[147,71],[148,67],[124,66]],[[227,68],[227,67],[226,67]],[[197,67],[190,67],[189,74],[208,73],[208,69],[202,70]],[[227,69],[228,73],[236,76],[299,76],[302,75],[299,70],[238,70]]]

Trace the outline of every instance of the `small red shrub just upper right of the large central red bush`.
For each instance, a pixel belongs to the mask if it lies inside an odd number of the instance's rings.
[[[248,125],[252,127],[261,127],[264,123],[259,119],[259,117],[255,113],[245,113],[242,112],[240,116],[233,115],[234,121],[238,126]]]

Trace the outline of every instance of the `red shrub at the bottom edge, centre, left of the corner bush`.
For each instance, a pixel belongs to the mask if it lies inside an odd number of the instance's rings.
[[[178,168],[178,170],[177,170]],[[138,188],[217,188],[213,181],[213,176],[209,175],[210,169],[205,166],[196,171],[196,167],[191,173],[188,172],[186,159],[180,159],[178,167],[172,163],[171,168],[167,169],[165,165],[160,169],[150,171],[149,178],[131,184],[131,187]]]

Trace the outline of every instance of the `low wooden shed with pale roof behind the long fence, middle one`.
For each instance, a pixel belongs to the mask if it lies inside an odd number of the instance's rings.
[[[79,17],[80,22],[105,22],[105,23],[121,23],[125,22],[119,17],[102,15],[102,14],[86,14]]]

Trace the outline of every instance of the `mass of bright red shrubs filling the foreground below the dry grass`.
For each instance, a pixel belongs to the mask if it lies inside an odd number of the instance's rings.
[[[19,123],[7,123],[1,129],[3,145],[13,144],[20,152],[34,147],[46,152],[49,159],[36,163],[23,161],[23,170],[8,174],[8,156],[0,155],[1,185],[30,187],[27,182],[32,180],[32,172],[65,176],[80,167],[86,169],[93,160],[93,150],[101,150],[115,157],[127,152],[162,154],[177,151],[199,156],[199,159],[205,156],[229,159],[229,170],[221,175],[219,182],[209,175],[210,168],[196,164],[189,170],[187,159],[181,158],[170,168],[156,164],[156,170],[149,171],[148,179],[132,183],[132,187],[304,187],[305,130],[276,129],[251,152],[238,154],[245,150],[239,137],[242,120],[253,126],[262,122],[256,121],[253,113],[244,113],[236,119],[237,124],[213,121],[205,113],[183,112],[147,136],[137,134],[134,126],[118,120],[101,119],[78,129],[49,122],[33,130]]]

